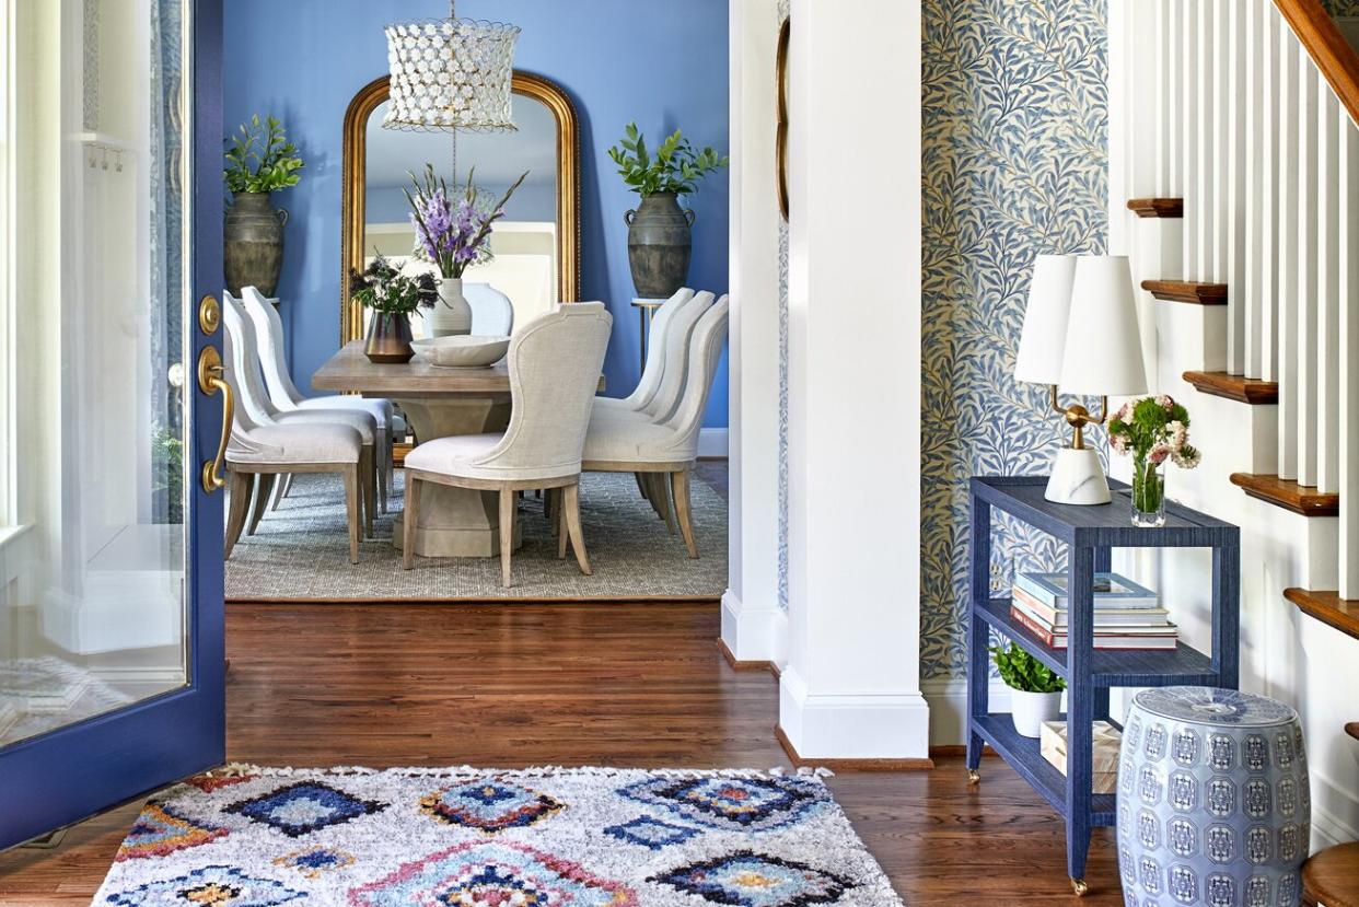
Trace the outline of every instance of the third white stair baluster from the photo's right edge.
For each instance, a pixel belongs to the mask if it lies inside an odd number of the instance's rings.
[[[1298,39],[1279,22],[1279,477],[1298,477]]]

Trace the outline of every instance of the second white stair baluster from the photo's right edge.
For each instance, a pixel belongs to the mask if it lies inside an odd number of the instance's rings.
[[[1298,484],[1317,484],[1317,170],[1321,124],[1317,68],[1298,54]]]

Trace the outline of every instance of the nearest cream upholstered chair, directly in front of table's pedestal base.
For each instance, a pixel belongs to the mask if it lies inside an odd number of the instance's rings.
[[[580,449],[613,318],[602,302],[578,302],[527,324],[510,343],[510,426],[503,435],[429,441],[406,456],[402,518],[406,570],[414,563],[420,490],[427,481],[500,492],[500,572],[508,589],[520,491],[563,490],[557,555],[569,534],[580,572],[590,558],[580,529]]]

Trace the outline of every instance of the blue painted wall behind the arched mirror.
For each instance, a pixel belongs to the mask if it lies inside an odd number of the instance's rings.
[[[226,4],[227,129],[253,113],[281,117],[307,167],[280,193],[291,212],[279,292],[289,362],[300,388],[340,340],[341,124],[353,94],[386,72],[382,29],[440,18],[443,0],[230,0]],[[636,120],[651,137],[682,126],[696,144],[727,144],[727,0],[462,0],[458,15],[523,29],[515,65],[557,82],[580,116],[582,295],[614,315],[609,392],[637,381],[628,230],[636,207],[605,150]],[[699,215],[690,284],[727,288],[727,174],[689,201]],[[705,424],[727,426],[727,366]]]

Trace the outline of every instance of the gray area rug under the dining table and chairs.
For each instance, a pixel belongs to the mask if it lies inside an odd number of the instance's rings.
[[[254,536],[242,534],[227,562],[227,598],[232,601],[448,601],[448,600],[640,600],[718,598],[727,587],[727,503],[697,476],[692,481],[699,560],[656,518],[626,473],[586,473],[580,519],[593,577],[575,559],[557,560],[557,540],[542,515],[542,502],[519,504],[523,548],[514,555],[514,587],[500,586],[499,558],[417,558],[401,568],[391,544],[391,518],[401,511],[402,473],[391,513],[378,514],[376,538],[359,547],[349,563],[340,479],[298,476],[292,494],[268,514]]]

